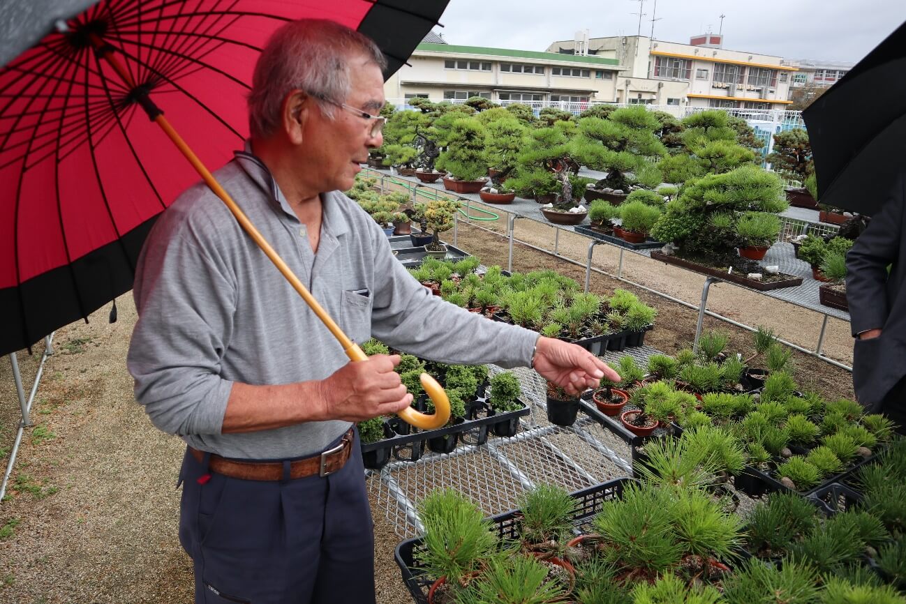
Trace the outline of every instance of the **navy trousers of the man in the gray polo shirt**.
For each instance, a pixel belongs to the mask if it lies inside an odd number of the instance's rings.
[[[195,563],[196,604],[374,603],[358,432],[346,465],[323,478],[207,475],[207,457],[199,463],[187,450],[179,542]]]

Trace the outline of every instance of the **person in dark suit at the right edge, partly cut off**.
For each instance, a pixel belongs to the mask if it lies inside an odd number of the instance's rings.
[[[846,254],[846,298],[856,339],[853,386],[872,413],[906,431],[906,172]],[[890,267],[890,269],[888,269]]]

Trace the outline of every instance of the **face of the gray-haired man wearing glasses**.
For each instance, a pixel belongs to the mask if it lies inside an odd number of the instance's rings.
[[[384,79],[381,68],[364,56],[357,55],[349,63],[350,93],[341,102],[378,115],[384,106]],[[301,167],[310,171],[317,190],[345,191],[352,188],[359,164],[368,160],[368,150],[380,147],[383,137],[371,136],[374,120],[355,115],[350,110],[333,106],[333,120],[322,110],[313,110],[313,119],[306,129],[304,143],[308,156]],[[309,163],[310,162],[310,163]],[[306,175],[307,176],[307,175]]]

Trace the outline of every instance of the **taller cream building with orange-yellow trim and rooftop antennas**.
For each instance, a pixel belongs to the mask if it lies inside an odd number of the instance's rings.
[[[795,66],[767,54],[722,48],[716,34],[693,36],[688,44],[627,35],[554,42],[548,53],[616,60],[624,71],[614,101],[679,107],[742,110],[784,109]]]

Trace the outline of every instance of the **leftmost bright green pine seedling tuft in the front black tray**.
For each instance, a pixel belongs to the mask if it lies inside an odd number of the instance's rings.
[[[492,524],[475,503],[452,489],[425,497],[419,517],[425,527],[425,549],[417,557],[430,577],[446,577],[455,584],[478,570],[496,550]]]

